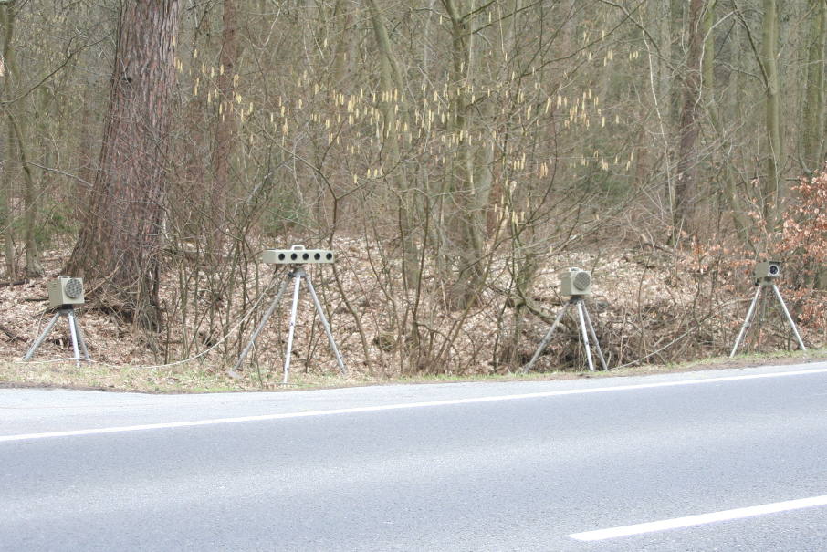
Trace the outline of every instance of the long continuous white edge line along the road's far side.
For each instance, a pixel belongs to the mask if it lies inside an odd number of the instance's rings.
[[[333,416],[337,414],[356,414],[361,412],[396,411],[416,408],[431,408],[437,406],[451,406],[457,404],[477,404],[481,402],[519,401],[523,399],[540,399],[545,397],[561,397],[564,395],[586,395],[591,393],[607,393],[613,391],[636,391],[643,389],[657,389],[661,387],[677,387],[683,385],[702,385],[705,383],[721,383],[726,381],[762,380],[767,378],[783,378],[787,376],[803,376],[827,373],[827,368],[811,370],[792,370],[786,372],[771,372],[768,374],[748,374],[741,376],[726,376],[721,378],[707,378],[701,380],[661,381],[658,383],[639,383],[635,385],[617,385],[613,387],[594,387],[589,389],[572,389],[566,391],[539,391],[517,395],[495,395],[489,397],[473,397],[469,399],[449,399],[445,401],[403,402],[400,404],[382,404],[379,406],[362,406],[356,408],[342,408],[327,411],[299,411],[281,414],[264,414],[260,416],[241,416],[237,418],[214,418],[210,420],[195,420],[193,422],[166,422],[147,423],[142,425],[125,425],[120,427],[102,427],[87,430],[67,432],[22,433],[18,435],[0,436],[0,443],[12,441],[32,441],[35,439],[49,439],[52,437],[77,437],[80,435],[99,435],[103,433],[139,432],[144,430],[173,429],[179,427],[196,427],[200,425],[217,425],[220,423],[263,422],[270,420],[288,420],[291,418],[310,418],[315,416]]]

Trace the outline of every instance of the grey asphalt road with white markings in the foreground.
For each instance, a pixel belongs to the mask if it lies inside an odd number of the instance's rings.
[[[0,390],[0,549],[824,550],[827,363]]]

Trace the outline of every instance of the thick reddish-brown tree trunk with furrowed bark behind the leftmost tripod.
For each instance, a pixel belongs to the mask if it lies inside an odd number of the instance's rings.
[[[97,280],[98,297],[157,329],[165,166],[173,114],[178,0],[125,0],[86,220],[67,273]]]

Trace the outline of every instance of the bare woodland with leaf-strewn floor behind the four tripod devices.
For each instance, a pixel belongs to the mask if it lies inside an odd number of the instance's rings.
[[[827,342],[827,0],[2,0],[0,40],[6,357],[69,274],[93,358],[223,370],[293,244],[372,375],[518,370],[568,266],[614,366],[728,351],[765,258]]]

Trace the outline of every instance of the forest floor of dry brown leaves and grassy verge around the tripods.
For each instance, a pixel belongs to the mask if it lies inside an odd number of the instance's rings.
[[[438,299],[422,299],[421,316],[427,320],[424,326],[433,330],[432,338],[444,337],[454,328],[459,329],[444,349],[447,352],[435,357],[435,368],[431,365],[424,370],[411,370],[405,367],[406,351],[399,345],[405,337],[394,333],[389,323],[398,318],[399,310],[394,308],[399,309],[403,302],[393,300],[394,297],[404,295],[399,291],[399,282],[377,271],[376,257],[382,253],[374,250],[366,255],[364,252],[372,247],[360,240],[341,240],[334,246],[340,257],[336,278],[330,276],[330,270],[319,267],[314,267],[318,270],[309,268],[309,273],[322,303],[330,308],[333,333],[349,368],[346,376],[339,373],[304,289],[289,384],[281,385],[289,293],[276,311],[280,316],[271,318],[256,341],[252,362],[239,373],[229,370],[238,351],[246,345],[267,301],[272,301],[275,295],[272,288],[260,295],[267,286],[259,286],[256,278],[241,286],[243,291],[236,292],[235,300],[224,297],[224,303],[219,303],[219,306],[230,304],[223,318],[198,318],[187,314],[190,312],[187,309],[171,309],[169,319],[182,322],[176,327],[186,327],[180,333],[162,337],[165,343],[173,343],[173,347],[153,349],[141,332],[129,324],[99,309],[79,307],[79,326],[85,334],[92,361],[77,366],[70,359],[68,324],[61,319],[34,359],[21,362],[53,316],[47,310],[47,282],[59,274],[67,252],[52,251],[44,259],[47,276],[0,286],[0,387],[171,393],[275,391],[393,382],[631,376],[827,359],[827,337],[818,324],[801,324],[804,341],[811,349],[784,350],[790,349],[790,337],[782,320],[768,323],[763,329],[764,338],[747,339],[741,351],[748,354],[727,359],[753,288],[722,285],[719,291],[707,293],[704,278],[678,266],[675,255],[633,247],[611,253],[573,252],[548,259],[531,297],[546,313],[547,320],[529,315],[520,328],[518,340],[517,358],[524,363],[547,331],[548,318],[553,318],[560,308],[557,295],[560,266],[581,266],[593,271],[591,316],[610,367],[620,368],[606,372],[585,370],[573,321],[560,328],[560,335],[555,336],[548,353],[539,359],[536,371],[521,374],[513,365],[497,362],[497,354],[502,352],[497,353],[497,347],[502,348],[501,334],[509,328],[508,309],[503,308],[504,296],[497,292],[497,282],[508,279],[508,271],[502,269],[498,275],[494,274],[495,285],[480,306],[462,313],[460,325],[457,325],[459,315],[445,314]],[[169,284],[162,290],[164,304],[184,305],[191,301],[191,311],[204,307],[211,280],[199,277],[192,284],[198,289],[191,289],[190,297],[186,298],[173,290],[173,283],[181,279],[175,274],[168,275]],[[433,280],[431,278],[430,285]],[[340,293],[340,290],[348,291]],[[248,297],[246,302],[238,298],[242,294]],[[428,297],[439,295],[430,293]],[[263,300],[256,303],[255,297]],[[827,306],[823,295],[817,298],[818,306],[823,313],[823,307]],[[256,318],[247,319],[247,312],[253,312],[254,307]],[[778,313],[769,314],[769,318],[780,318]],[[175,359],[194,356],[198,358],[175,362]]]

